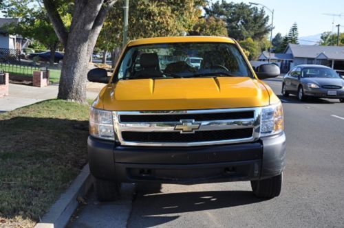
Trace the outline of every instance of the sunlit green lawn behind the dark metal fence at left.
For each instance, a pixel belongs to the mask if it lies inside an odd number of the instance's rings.
[[[10,64],[1,64],[0,69],[6,73],[17,74],[20,76],[32,76],[33,71],[38,71],[40,67],[28,67]],[[49,69],[50,70],[50,82],[56,83],[60,81],[61,69]]]

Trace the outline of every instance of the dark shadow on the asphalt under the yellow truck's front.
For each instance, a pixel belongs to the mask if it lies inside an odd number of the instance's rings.
[[[133,203],[129,227],[155,227],[180,217],[178,214],[209,211],[266,201],[249,191],[206,191],[140,194]],[[147,205],[149,205],[147,207]],[[177,215],[176,215],[177,214]]]

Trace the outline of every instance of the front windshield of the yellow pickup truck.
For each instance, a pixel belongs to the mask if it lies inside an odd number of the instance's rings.
[[[191,63],[197,63],[195,66]],[[230,43],[168,43],[131,47],[118,79],[251,77],[244,56]]]

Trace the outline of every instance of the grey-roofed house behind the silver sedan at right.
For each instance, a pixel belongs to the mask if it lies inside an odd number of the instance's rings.
[[[344,73],[344,47],[343,46],[317,46],[317,45],[295,45],[289,44],[283,54],[272,54],[276,59],[286,66],[281,71],[286,72],[290,68],[302,64],[316,64],[331,67],[338,73]],[[259,56],[260,61],[268,60],[268,52]],[[288,70],[287,70],[288,69]]]

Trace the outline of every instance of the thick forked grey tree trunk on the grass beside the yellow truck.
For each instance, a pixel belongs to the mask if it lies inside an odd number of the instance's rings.
[[[86,103],[88,60],[96,44],[108,10],[117,0],[75,0],[69,32],[54,0],[43,0],[45,10],[65,47],[58,98]],[[103,4],[104,3],[104,4]]]

